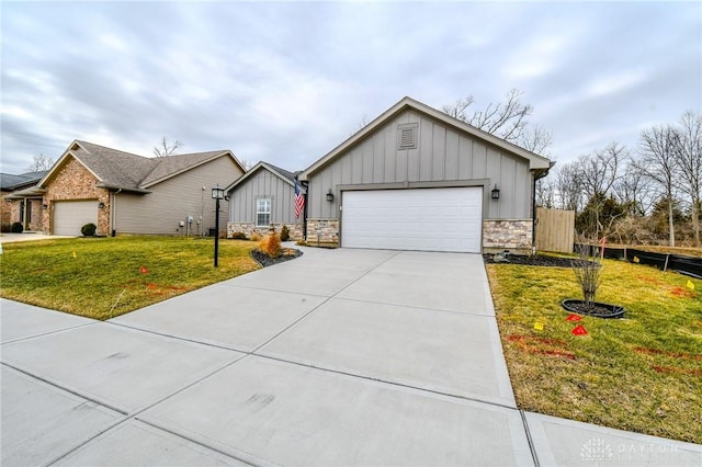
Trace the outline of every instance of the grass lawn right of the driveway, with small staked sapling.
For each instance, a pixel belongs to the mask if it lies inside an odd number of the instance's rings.
[[[597,301],[624,319],[567,321],[561,301],[582,298],[570,269],[486,265],[518,407],[702,444],[702,281],[602,264]]]

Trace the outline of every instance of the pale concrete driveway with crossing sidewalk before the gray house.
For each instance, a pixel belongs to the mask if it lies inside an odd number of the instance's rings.
[[[702,462],[517,410],[479,255],[305,249],[107,322],[1,305],[3,466]]]

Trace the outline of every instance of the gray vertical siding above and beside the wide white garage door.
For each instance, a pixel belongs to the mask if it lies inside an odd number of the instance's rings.
[[[416,149],[397,149],[400,124],[418,125]],[[309,175],[308,216],[339,217],[339,185],[488,180],[486,219],[531,217],[529,161],[448,127],[424,114],[406,110],[365,139]],[[490,201],[498,185],[500,198]],[[335,201],[326,200],[331,190]]]

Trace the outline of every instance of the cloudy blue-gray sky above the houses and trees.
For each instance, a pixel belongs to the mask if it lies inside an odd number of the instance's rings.
[[[1,171],[73,139],[299,170],[409,95],[512,88],[559,162],[702,112],[700,2],[0,3]]]

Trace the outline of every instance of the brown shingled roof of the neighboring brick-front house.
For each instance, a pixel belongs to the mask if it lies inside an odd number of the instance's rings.
[[[64,162],[72,157],[98,179],[99,186],[148,193],[150,186],[222,156],[231,157],[244,172],[244,167],[229,150],[146,158],[92,143],[75,140],[42,179],[39,185],[46,185]]]

